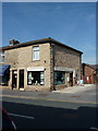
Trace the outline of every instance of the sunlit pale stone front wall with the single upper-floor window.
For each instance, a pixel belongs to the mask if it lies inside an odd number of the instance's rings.
[[[36,46],[36,45],[34,45]],[[11,64],[11,73],[12,70],[21,70],[24,69],[24,84],[25,90],[50,90],[50,44],[40,44],[39,45],[39,56],[40,60],[33,61],[33,46],[21,47],[15,49],[5,50],[5,64]],[[27,85],[27,68],[32,67],[44,67],[45,68],[45,85],[42,86],[33,86]],[[10,74],[11,74],[10,73]],[[11,85],[12,78],[10,79]],[[19,83],[17,83],[19,85]],[[17,87],[19,88],[19,87]]]

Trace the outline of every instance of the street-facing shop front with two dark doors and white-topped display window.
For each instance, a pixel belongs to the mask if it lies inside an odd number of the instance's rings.
[[[33,88],[45,85],[44,67],[32,67],[26,69],[10,70],[10,88]]]

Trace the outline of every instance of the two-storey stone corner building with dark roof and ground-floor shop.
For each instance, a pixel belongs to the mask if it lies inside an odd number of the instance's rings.
[[[52,91],[81,80],[83,52],[51,37],[26,43],[12,39],[0,50],[3,64],[10,66],[10,88]]]

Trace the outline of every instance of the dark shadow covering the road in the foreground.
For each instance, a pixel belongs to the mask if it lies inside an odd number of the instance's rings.
[[[49,102],[48,102],[49,103]],[[3,102],[8,112],[34,117],[34,120],[14,117],[17,129],[68,129],[88,130],[97,127],[97,111],[95,107],[79,107],[78,109],[63,109]]]

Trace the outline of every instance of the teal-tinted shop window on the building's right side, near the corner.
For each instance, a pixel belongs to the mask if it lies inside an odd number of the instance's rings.
[[[65,84],[65,72],[63,71],[57,71],[54,72],[54,84]]]

